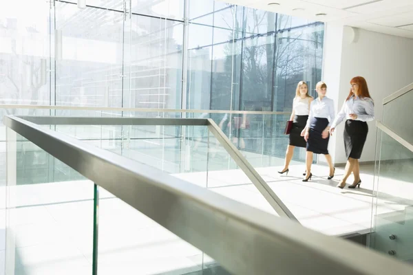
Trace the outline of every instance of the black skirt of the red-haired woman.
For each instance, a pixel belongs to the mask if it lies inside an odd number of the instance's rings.
[[[347,120],[344,127],[344,147],[347,158],[359,159],[368,133],[367,122]]]

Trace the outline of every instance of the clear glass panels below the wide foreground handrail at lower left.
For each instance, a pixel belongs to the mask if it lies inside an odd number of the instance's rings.
[[[10,129],[7,146],[7,211],[1,209],[8,221],[7,250],[0,255],[6,259],[6,274],[92,274],[95,262],[98,274],[229,274]]]

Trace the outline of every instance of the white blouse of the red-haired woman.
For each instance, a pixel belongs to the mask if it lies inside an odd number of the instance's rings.
[[[349,100],[344,102],[343,107],[337,114],[337,118],[332,122],[332,128],[340,124],[344,118],[351,120],[350,114],[357,115],[356,120],[368,122],[374,120],[374,103],[371,98],[359,98],[352,96]]]

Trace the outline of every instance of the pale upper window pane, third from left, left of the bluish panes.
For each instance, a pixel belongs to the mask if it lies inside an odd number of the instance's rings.
[[[132,15],[123,106],[180,109],[182,36],[182,23]]]

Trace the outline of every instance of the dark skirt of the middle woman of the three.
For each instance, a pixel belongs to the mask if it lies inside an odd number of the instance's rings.
[[[310,121],[310,131],[308,131],[310,135],[307,141],[307,151],[315,154],[328,155],[328,140],[330,140],[330,135],[328,135],[327,138],[321,136],[327,126],[327,118],[312,118]]]

